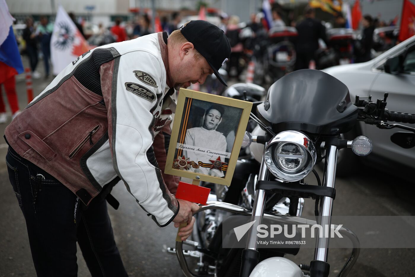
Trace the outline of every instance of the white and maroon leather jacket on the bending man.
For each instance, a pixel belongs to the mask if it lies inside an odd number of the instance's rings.
[[[165,163],[165,143],[153,148],[171,114],[161,109],[172,87],[166,43],[160,32],[78,57],[7,126],[8,143],[85,205],[121,178],[153,220],[167,225],[178,213],[175,184],[169,191],[154,154]]]

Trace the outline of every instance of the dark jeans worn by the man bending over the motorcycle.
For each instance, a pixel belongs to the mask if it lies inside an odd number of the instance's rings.
[[[37,276],[76,277],[76,242],[93,277],[127,276],[105,198],[98,195],[85,207],[71,190],[11,147],[6,163]]]

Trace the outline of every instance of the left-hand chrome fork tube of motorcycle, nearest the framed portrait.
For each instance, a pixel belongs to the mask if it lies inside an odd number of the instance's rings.
[[[259,176],[258,181],[268,180],[269,178],[269,171],[265,165],[264,156],[262,156],[262,163],[261,168],[259,168]],[[257,227],[261,224],[262,218],[264,217],[264,210],[265,210],[265,190],[256,190],[255,192],[255,201],[254,201],[254,208],[252,210],[251,221],[255,221],[252,228],[249,229],[248,241],[247,241],[247,249],[256,250],[258,247],[256,245],[256,235],[257,235]]]

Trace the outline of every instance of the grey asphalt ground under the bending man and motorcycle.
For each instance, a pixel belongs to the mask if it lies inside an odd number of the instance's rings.
[[[40,72],[42,67],[43,63],[39,62]],[[51,80],[51,77],[34,80],[35,96]],[[22,75],[17,77],[17,91],[22,109],[27,104]],[[4,92],[2,96],[6,101]],[[6,126],[7,124],[0,124],[1,135]],[[36,276],[24,218],[8,181],[6,152],[7,145],[0,142],[0,277]],[[345,179],[337,178],[333,215],[414,215],[414,185],[385,175],[382,171],[361,168],[359,174]],[[166,254],[166,247],[174,246],[176,229],[171,225],[157,227],[139,208],[122,183],[115,186],[112,194],[120,201],[120,208],[114,210],[109,206],[108,209],[115,241],[129,276],[183,276],[176,256]],[[306,200],[304,214],[313,213],[314,203]],[[313,249],[302,249],[298,255],[287,257],[298,264],[309,264],[313,253]],[[350,250],[347,249],[329,251],[330,276],[337,275],[349,254]],[[362,249],[349,276],[415,276],[414,264],[415,249]],[[78,266],[78,276],[90,276],[80,251]]]

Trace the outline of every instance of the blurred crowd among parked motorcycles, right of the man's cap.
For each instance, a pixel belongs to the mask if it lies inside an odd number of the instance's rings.
[[[268,59],[275,59],[276,54],[271,53],[273,50],[270,49],[271,47],[263,50],[262,52],[256,51],[270,45],[275,46],[278,43],[276,42],[275,37],[272,38],[273,34],[271,33],[273,31],[281,33],[285,32],[286,37],[281,40],[286,40],[292,42],[293,44],[295,54],[289,53],[291,50],[287,49],[287,47],[282,50],[290,55],[290,57],[288,57],[287,64],[291,61],[291,58],[295,59],[295,65],[292,70],[305,68],[322,69],[324,67],[318,68],[318,66],[315,65],[318,63],[317,59],[319,59],[317,54],[321,56],[326,53],[325,55],[328,56],[330,55],[328,53],[331,53],[332,56],[336,56],[337,61],[332,61],[329,66],[339,64],[339,59],[346,56],[344,53],[333,54],[335,51],[349,52],[349,56],[347,57],[348,63],[369,61],[373,58],[373,53],[371,51],[374,48],[375,28],[394,26],[396,24],[396,19],[386,23],[386,21],[381,20],[380,18],[373,18],[370,15],[364,15],[361,18],[359,30],[349,29],[349,31],[337,31],[343,33],[352,32],[353,38],[344,38],[344,42],[336,42],[338,44],[334,46],[333,42],[330,41],[331,37],[327,35],[328,31],[334,28],[347,28],[347,20],[341,12],[338,12],[336,15],[332,15],[330,20],[327,20],[326,15],[324,21],[319,19],[316,14],[316,10],[307,5],[305,6],[302,14],[295,16],[293,11],[283,10],[283,8],[278,4],[273,5],[270,12],[272,18],[267,21],[265,20],[266,15],[264,15],[263,12],[252,14],[250,21],[246,22],[246,24],[241,24],[239,22],[239,17],[235,15],[228,17],[226,14],[222,14],[220,27],[226,33],[232,47],[232,54],[229,62],[227,63],[228,76],[236,78],[239,81],[243,81],[241,79],[241,72],[244,67],[246,68],[246,65],[252,58],[256,60],[262,58],[267,59],[266,56],[268,55]],[[320,15],[321,13],[318,14]],[[249,27],[253,32],[249,39],[242,35],[246,33],[244,32],[246,27]],[[290,37],[294,32],[295,38]],[[284,35],[281,35],[281,37],[283,36]],[[352,35],[350,35],[350,37],[352,37]],[[394,43],[391,44],[390,47],[393,45]],[[274,47],[274,50],[275,49],[276,48]],[[384,51],[386,49],[382,50]],[[262,57],[252,57],[258,52],[261,52],[260,54]],[[263,66],[264,71],[267,71],[267,65]],[[320,66],[323,65],[320,64]]]

